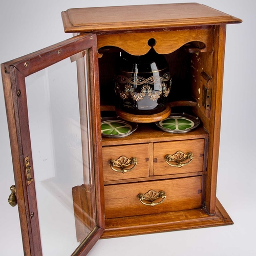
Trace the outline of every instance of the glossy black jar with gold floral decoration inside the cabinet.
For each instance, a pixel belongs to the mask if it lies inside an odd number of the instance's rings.
[[[121,110],[137,115],[162,112],[171,84],[167,61],[154,49],[141,56],[120,53],[115,93]]]

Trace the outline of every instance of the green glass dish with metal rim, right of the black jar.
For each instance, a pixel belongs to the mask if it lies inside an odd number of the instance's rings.
[[[198,117],[186,113],[170,114],[167,118],[156,122],[156,125],[167,133],[187,133],[200,124]]]

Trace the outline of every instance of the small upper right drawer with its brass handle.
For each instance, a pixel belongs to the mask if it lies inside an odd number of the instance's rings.
[[[154,143],[154,175],[201,172],[203,162],[204,139]]]

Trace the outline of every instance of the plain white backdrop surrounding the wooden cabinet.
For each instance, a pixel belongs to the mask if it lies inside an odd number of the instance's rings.
[[[69,8],[182,2],[195,1],[1,1],[0,63],[71,37],[63,32],[60,16],[61,11]],[[234,225],[100,240],[89,253],[91,256],[256,255],[256,1],[201,0],[199,3],[243,19],[242,24],[227,26],[217,190]],[[14,178],[2,86],[0,120],[0,254],[23,255],[18,209],[8,204]]]

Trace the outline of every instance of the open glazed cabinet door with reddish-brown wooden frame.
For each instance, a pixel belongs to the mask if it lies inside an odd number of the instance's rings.
[[[97,38],[2,64],[25,255],[86,255],[104,230]]]

